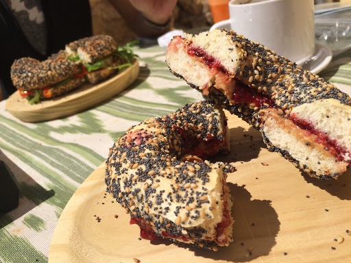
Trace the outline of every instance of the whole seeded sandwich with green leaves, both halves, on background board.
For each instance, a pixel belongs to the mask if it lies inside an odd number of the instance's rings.
[[[137,56],[131,49],[134,43],[120,47],[111,36],[91,36],[67,44],[42,62],[20,58],[11,66],[12,83],[30,104],[53,99],[85,82],[102,82],[131,66]]]

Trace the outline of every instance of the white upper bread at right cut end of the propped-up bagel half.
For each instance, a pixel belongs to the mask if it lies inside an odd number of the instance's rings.
[[[328,135],[330,140],[347,151],[341,153],[343,158],[351,160],[351,107],[336,99],[322,99],[293,108],[291,115],[311,123],[315,129]]]

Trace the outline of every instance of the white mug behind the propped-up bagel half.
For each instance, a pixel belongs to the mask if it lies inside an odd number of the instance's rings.
[[[232,0],[230,29],[300,64],[315,51],[313,0]],[[211,30],[210,29],[210,30]],[[228,28],[227,28],[228,29]]]

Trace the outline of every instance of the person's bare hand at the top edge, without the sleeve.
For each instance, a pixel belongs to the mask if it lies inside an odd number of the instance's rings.
[[[177,0],[129,0],[147,20],[163,25],[169,21]]]

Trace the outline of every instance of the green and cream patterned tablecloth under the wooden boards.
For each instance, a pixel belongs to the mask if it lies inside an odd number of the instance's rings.
[[[0,262],[47,262],[58,218],[73,192],[130,126],[203,99],[169,73],[158,46],[136,49],[141,71],[121,95],[80,114],[23,123],[0,103],[0,160],[19,182],[19,207],[0,215]],[[351,93],[351,50],[319,73]],[[0,175],[1,176],[1,175]],[[3,202],[5,200],[1,200]]]

